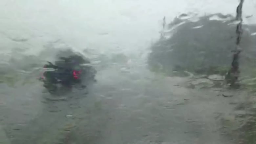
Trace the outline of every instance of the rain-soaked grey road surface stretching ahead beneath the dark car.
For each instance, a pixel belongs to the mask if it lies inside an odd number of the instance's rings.
[[[232,99],[185,88],[187,78],[142,66],[112,66],[96,78],[88,94],[52,97],[38,93],[43,89],[36,82],[26,86],[33,94],[1,97],[1,124],[11,143],[229,144],[218,117],[233,111]]]

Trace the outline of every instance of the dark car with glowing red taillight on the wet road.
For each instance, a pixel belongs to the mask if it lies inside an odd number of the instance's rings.
[[[83,81],[94,80],[96,70],[90,65],[90,61],[79,55],[59,57],[55,64],[48,62],[44,68],[48,69],[40,78],[44,87],[55,93],[58,88],[71,88],[74,85],[86,87]]]

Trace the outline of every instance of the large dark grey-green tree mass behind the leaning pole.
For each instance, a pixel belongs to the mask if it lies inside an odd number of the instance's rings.
[[[170,73],[186,70],[198,74],[222,74],[231,65],[235,49],[234,17],[212,14],[197,21],[176,17],[165,30],[165,37],[152,45],[149,68],[155,72]],[[218,20],[217,20],[218,19]],[[222,20],[220,20],[222,19]],[[224,20],[223,20],[224,19]],[[243,25],[241,66],[252,66],[256,55],[255,25]]]

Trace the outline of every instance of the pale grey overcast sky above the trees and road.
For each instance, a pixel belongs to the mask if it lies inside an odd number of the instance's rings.
[[[238,0],[1,0],[2,50],[17,46],[40,51],[61,39],[72,47],[98,52],[135,52],[159,37],[161,20],[183,12],[235,14]],[[245,0],[244,16],[256,13],[256,1]],[[255,16],[245,23],[255,20]],[[4,37],[27,38],[15,44]],[[119,48],[118,48],[119,47]]]

